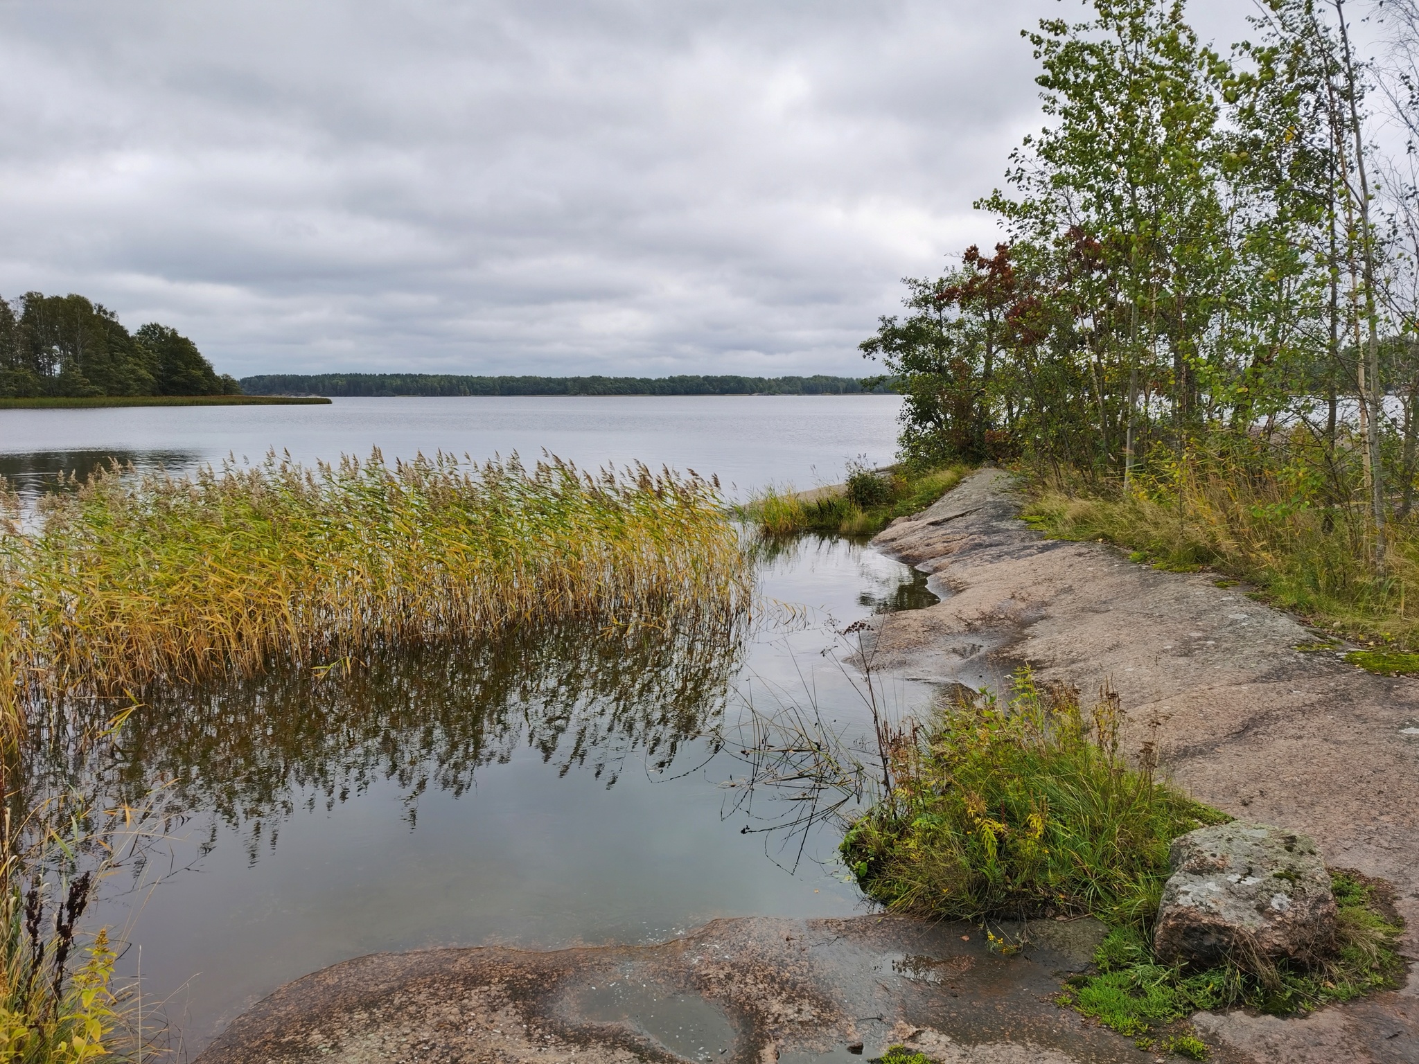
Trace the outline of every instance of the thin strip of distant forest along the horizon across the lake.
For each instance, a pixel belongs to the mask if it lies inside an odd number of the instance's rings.
[[[847,396],[891,392],[857,377],[468,377],[453,373],[268,373],[248,396]]]

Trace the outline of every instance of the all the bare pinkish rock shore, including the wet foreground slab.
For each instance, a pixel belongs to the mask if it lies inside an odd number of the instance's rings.
[[[1419,681],[1297,650],[1314,634],[1246,587],[1044,541],[1019,505],[1007,475],[983,470],[878,536],[942,602],[884,616],[874,667],[978,687],[1029,664],[1086,691],[1111,684],[1128,742],[1155,743],[1198,799],[1391,881],[1413,955]],[[658,946],[376,955],[282,987],[199,1060],[850,1064],[894,1041],[941,1064],[1152,1060],[1053,1003],[1098,933],[1032,925],[1023,953],[1000,958],[969,926],[864,915],[717,921]],[[1222,1064],[1419,1064],[1415,980],[1307,1017],[1195,1024]]]

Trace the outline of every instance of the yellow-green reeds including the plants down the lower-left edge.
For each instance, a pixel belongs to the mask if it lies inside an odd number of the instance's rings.
[[[55,716],[67,699],[569,621],[715,644],[752,590],[718,484],[644,465],[272,454],[192,478],[115,467],[33,519],[13,492],[0,511],[0,792],[26,824],[10,833],[7,814],[0,840],[0,1064],[142,1043],[104,933],[75,933],[92,838],[31,779],[35,749],[75,728]]]

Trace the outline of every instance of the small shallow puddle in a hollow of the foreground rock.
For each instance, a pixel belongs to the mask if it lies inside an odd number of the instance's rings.
[[[626,976],[580,992],[572,1012],[579,1020],[631,1027],[675,1055],[694,1061],[728,1055],[736,1037],[724,1010],[700,994]]]

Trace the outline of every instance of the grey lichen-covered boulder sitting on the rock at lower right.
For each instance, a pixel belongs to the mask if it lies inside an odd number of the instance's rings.
[[[1154,951],[1166,963],[1254,969],[1308,960],[1335,939],[1335,897],[1307,836],[1233,820],[1172,843]]]

